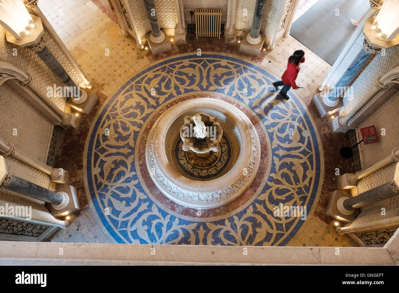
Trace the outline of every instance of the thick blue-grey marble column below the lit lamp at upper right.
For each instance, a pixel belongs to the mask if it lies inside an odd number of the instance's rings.
[[[329,107],[334,107],[338,104],[340,96],[346,91],[346,87],[354,80],[358,73],[363,69],[364,65],[369,61],[371,56],[378,53],[381,48],[371,45],[366,39],[363,41],[363,47],[358,55],[346,69],[344,75],[334,86],[334,90],[323,95],[323,102]]]

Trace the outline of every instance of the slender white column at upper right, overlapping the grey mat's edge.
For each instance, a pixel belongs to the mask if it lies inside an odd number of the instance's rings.
[[[370,18],[371,16],[373,16],[375,14],[375,12],[377,11],[377,9],[379,9],[378,5],[371,4],[371,8],[366,12],[366,14],[363,17],[363,19],[361,20],[360,24],[358,25],[358,27],[356,28],[356,30],[350,37],[349,41],[346,43],[344,49],[342,49],[340,55],[338,56],[337,60],[332,65],[330,71],[328,71],[326,77],[324,77],[322,83],[319,85],[318,90],[320,90],[320,91],[324,90],[328,81],[330,80],[330,78],[332,77],[334,72],[337,70],[338,66],[340,66],[342,60],[344,60],[346,54],[348,54],[350,48],[352,48],[353,44],[356,42],[359,35],[363,31],[364,24],[365,24],[367,18]]]

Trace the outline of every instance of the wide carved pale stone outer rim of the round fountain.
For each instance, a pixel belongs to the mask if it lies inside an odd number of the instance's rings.
[[[164,152],[163,142],[171,122],[184,112],[196,109],[222,112],[236,123],[241,140],[235,165],[225,175],[209,181],[182,177],[168,163]],[[259,138],[249,118],[231,104],[212,98],[196,98],[168,109],[155,122],[146,144],[147,168],[155,185],[172,201],[190,208],[215,208],[239,197],[255,179],[260,155]]]

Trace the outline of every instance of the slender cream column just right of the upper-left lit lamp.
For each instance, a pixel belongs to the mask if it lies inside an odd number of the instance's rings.
[[[85,85],[87,88],[93,88],[93,84],[89,79],[87,79],[85,73],[82,71],[80,68],[79,64],[77,64],[75,58],[73,58],[72,54],[69,52],[59,35],[55,32],[43,12],[41,12],[40,8],[38,7],[38,0],[35,2],[29,3],[26,5],[29,8],[32,8],[33,12],[35,12],[36,16],[39,16],[41,19],[41,22],[47,29],[47,31],[50,33],[51,37],[53,37],[55,43],[57,43],[58,47],[61,49],[61,51],[64,53],[64,55],[68,58],[69,62],[71,62],[72,66],[75,68],[77,73],[79,73],[80,77],[83,79]]]

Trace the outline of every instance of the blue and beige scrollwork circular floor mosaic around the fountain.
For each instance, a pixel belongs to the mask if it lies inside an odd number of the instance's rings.
[[[287,244],[310,213],[322,185],[320,140],[302,101],[273,93],[278,78],[234,57],[203,53],[164,59],[126,82],[103,104],[85,145],[86,193],[97,221],[117,243]],[[180,206],[156,188],[145,144],[156,119],[181,101],[209,97],[239,108],[261,142],[256,178],[240,197],[207,210]],[[223,175],[232,142],[204,159],[173,149],[186,176]],[[204,172],[205,170],[205,172]],[[276,209],[281,204],[290,208]],[[301,210],[302,214],[296,211]],[[285,213],[284,213],[285,212]]]

